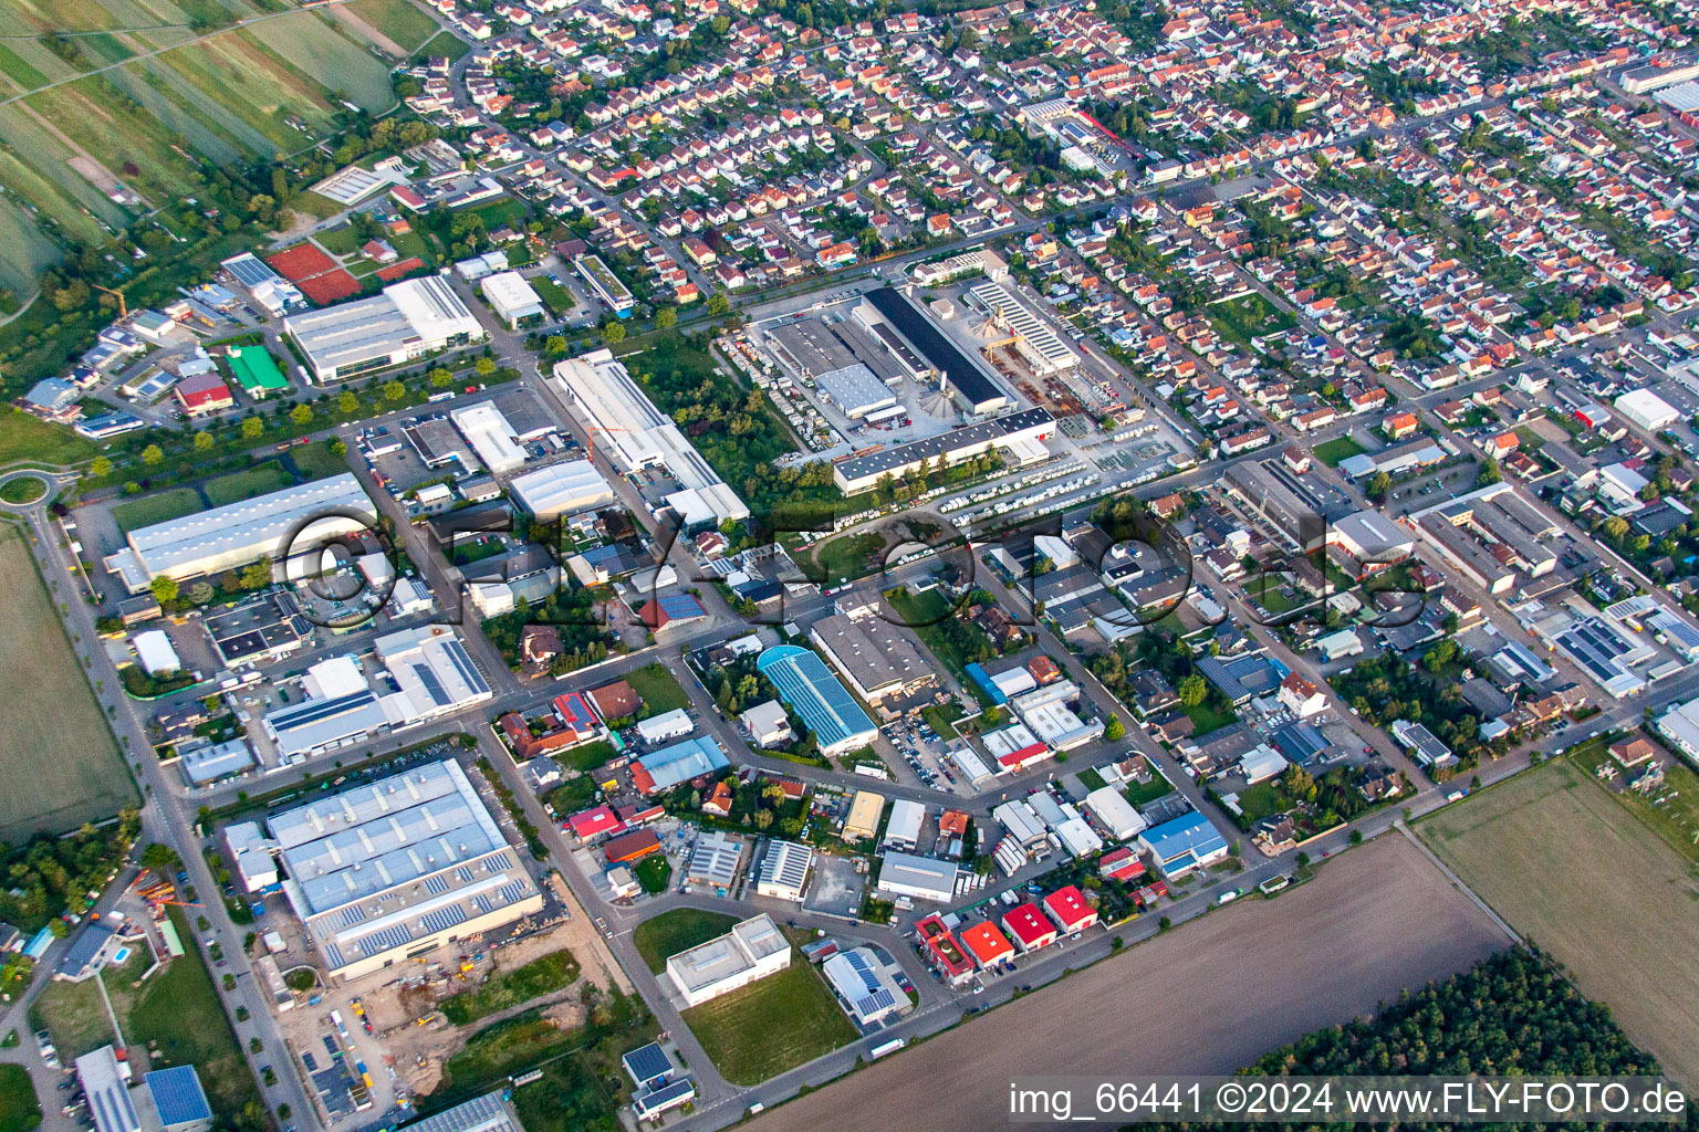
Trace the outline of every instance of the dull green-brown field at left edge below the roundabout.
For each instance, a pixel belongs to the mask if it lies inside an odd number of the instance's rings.
[[[0,840],[110,818],[136,787],[15,526],[0,524]],[[70,579],[65,582],[70,589]],[[25,786],[27,784],[27,786]]]

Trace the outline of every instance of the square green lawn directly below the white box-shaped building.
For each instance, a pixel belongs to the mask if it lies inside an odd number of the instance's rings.
[[[683,1015],[732,1084],[756,1084],[858,1037],[821,976],[792,949],[790,966]]]

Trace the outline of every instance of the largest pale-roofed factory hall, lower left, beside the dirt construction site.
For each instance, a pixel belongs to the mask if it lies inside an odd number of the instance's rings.
[[[268,821],[284,893],[333,976],[358,978],[542,911],[542,894],[454,760]]]

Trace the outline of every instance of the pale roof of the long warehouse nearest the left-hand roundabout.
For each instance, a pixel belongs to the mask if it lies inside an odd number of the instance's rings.
[[[151,577],[234,553],[251,558],[270,555],[277,560],[285,550],[287,536],[299,523],[336,507],[377,521],[377,511],[360,480],[353,479],[352,472],[341,472],[311,484],[297,484],[255,499],[144,526],[129,533],[129,545]],[[325,540],[350,530],[358,530],[352,519],[325,518],[306,528],[296,545],[306,546],[311,538]]]

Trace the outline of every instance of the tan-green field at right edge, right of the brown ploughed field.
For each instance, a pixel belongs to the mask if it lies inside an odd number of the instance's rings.
[[[1636,1045],[1699,1083],[1699,879],[1617,799],[1555,759],[1417,830],[1482,899],[1568,967]]]

